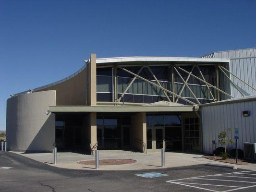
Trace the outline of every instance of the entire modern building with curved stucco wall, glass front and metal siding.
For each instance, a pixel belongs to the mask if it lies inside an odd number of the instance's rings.
[[[234,110],[227,111],[228,105],[241,110],[229,121],[249,111],[243,118],[250,123],[237,127],[256,132],[256,48],[245,53],[104,59],[91,54],[71,76],[7,100],[8,149],[51,151],[56,145],[90,153],[97,148],[210,153],[218,147],[218,132],[236,126],[225,123],[225,115]],[[244,60],[244,67],[237,60]],[[240,148],[255,141],[256,134],[243,136]]]

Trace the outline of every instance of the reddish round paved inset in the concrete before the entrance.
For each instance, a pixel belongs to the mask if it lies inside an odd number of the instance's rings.
[[[137,162],[133,159],[100,159],[99,165],[123,165]],[[78,161],[81,165],[95,165],[95,160]]]

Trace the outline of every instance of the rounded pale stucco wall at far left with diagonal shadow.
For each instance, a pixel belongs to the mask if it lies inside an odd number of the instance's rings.
[[[55,90],[42,91],[7,100],[6,141],[8,150],[51,151],[55,142]]]

